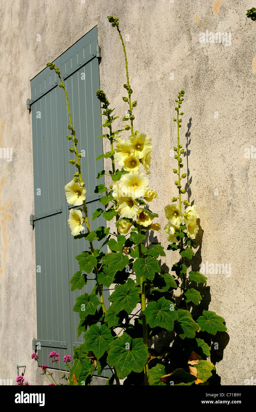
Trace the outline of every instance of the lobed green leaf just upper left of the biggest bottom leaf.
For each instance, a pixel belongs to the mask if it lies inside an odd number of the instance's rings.
[[[98,325],[92,325],[89,330],[84,334],[85,349],[87,351],[93,351],[95,357],[101,358],[101,356],[109,349],[109,344],[114,340],[114,336],[111,334],[111,330],[103,323]]]

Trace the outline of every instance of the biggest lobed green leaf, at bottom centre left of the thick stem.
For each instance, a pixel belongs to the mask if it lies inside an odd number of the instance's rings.
[[[148,348],[143,339],[132,339],[124,332],[110,343],[107,363],[116,368],[119,379],[124,379],[132,371],[142,372],[148,356]]]

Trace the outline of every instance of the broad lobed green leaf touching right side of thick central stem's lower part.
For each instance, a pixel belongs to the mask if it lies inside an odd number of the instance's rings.
[[[173,330],[174,321],[178,319],[175,305],[165,297],[161,297],[157,302],[149,302],[143,314],[147,316],[147,323],[151,328],[160,326],[170,331]]]

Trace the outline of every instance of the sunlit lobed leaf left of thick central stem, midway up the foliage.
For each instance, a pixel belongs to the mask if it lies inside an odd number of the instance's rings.
[[[109,296],[109,301],[113,302],[111,307],[114,313],[119,313],[125,310],[131,313],[140,302],[140,295],[138,288],[130,286],[130,284],[116,285],[114,292]]]

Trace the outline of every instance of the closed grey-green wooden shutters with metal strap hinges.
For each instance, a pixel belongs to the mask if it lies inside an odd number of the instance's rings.
[[[97,27],[82,37],[54,61],[61,69],[70,101],[70,109],[79,150],[84,150],[81,170],[86,182],[88,214],[92,216],[100,196],[95,185],[103,169],[100,103],[95,91],[100,87],[97,50]],[[77,296],[91,293],[95,281],[88,281],[82,290],[70,291],[69,281],[79,270],[75,256],[88,250],[84,239],[74,240],[67,224],[71,205],[67,204],[64,186],[74,176],[74,166],[68,163],[72,147],[67,140],[69,124],[63,90],[58,87],[54,70],[45,68],[31,81],[31,114],[33,129],[33,167],[35,190],[35,255],[37,288],[37,342],[41,344],[40,363],[49,365],[51,350],[63,356],[73,353],[73,346],[84,342],[83,333],[77,338],[79,314],[73,312]],[[91,229],[105,226],[100,217],[91,222]],[[95,242],[95,247],[100,243]],[[106,249],[105,249],[106,250]],[[92,278],[95,275],[88,275]],[[109,296],[105,292],[105,299]],[[107,300],[108,302],[108,300]],[[53,364],[53,368],[55,364]],[[64,369],[64,368],[63,368]],[[106,376],[108,373],[106,372]]]

